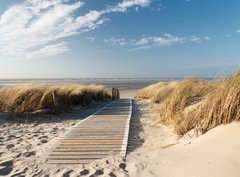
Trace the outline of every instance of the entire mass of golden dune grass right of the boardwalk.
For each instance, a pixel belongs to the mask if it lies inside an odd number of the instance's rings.
[[[220,124],[240,120],[240,72],[222,81],[182,80],[170,91],[168,85],[158,83],[144,88],[137,98],[157,102],[160,116],[156,123],[173,127],[180,136],[191,129],[205,133]]]

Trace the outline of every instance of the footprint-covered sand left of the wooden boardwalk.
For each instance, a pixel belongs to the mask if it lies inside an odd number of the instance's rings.
[[[101,102],[88,109],[74,107],[70,113],[59,115],[21,116],[10,120],[0,117],[0,175],[61,176],[69,173],[68,168],[43,167],[40,163],[44,160],[44,151],[77,121],[106,104]]]

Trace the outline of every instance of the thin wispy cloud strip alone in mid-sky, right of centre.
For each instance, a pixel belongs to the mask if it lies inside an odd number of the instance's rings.
[[[183,43],[184,38],[165,33],[162,36],[144,36],[140,39],[109,38],[104,39],[104,42],[113,46],[131,46],[135,50],[147,49],[150,46],[167,46]]]

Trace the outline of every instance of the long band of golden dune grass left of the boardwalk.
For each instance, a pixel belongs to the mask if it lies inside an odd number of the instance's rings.
[[[89,106],[93,101],[109,99],[107,89],[101,85],[19,85],[0,89],[0,112],[30,113],[50,109],[53,113],[71,106]]]

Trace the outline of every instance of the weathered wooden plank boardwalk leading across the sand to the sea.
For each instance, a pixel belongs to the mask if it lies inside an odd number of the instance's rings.
[[[87,164],[110,154],[126,156],[132,100],[115,100],[77,123],[58,141],[49,164]]]

